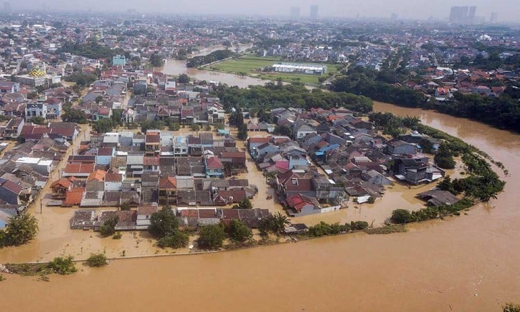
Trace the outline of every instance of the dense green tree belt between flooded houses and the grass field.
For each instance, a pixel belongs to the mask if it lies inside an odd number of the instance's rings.
[[[371,112],[373,103],[370,98],[347,94],[345,92],[322,92],[321,89],[306,89],[304,85],[281,83],[266,83],[265,86],[250,86],[248,89],[239,87],[217,87],[217,96],[225,109],[243,107],[245,110],[272,110],[276,107],[345,107],[354,112]]]

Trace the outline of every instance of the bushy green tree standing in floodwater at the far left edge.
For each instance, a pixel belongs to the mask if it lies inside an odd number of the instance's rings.
[[[9,219],[6,227],[6,245],[23,245],[38,232],[38,221],[31,214],[21,214]]]

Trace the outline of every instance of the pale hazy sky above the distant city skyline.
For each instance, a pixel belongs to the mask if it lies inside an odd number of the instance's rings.
[[[477,6],[478,16],[489,19],[499,13],[500,21],[520,21],[520,0],[4,0],[13,8],[40,9],[44,3],[50,10],[118,10],[130,8],[139,12],[289,15],[291,6],[300,6],[302,17],[309,7],[319,6],[320,17],[390,17],[395,12],[402,18],[437,19],[449,16],[451,6]]]

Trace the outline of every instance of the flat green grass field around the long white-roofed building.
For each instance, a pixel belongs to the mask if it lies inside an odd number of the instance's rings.
[[[225,73],[234,73],[236,75],[251,76],[266,80],[281,80],[291,83],[293,81],[299,81],[306,85],[319,85],[318,78],[321,76],[306,75],[304,73],[274,73],[274,72],[262,72],[261,69],[267,66],[271,66],[277,63],[283,62],[281,58],[259,58],[255,56],[243,56],[233,60],[226,60],[217,64],[205,68],[211,71],[223,71]],[[291,62],[287,62],[291,63]],[[301,64],[301,63],[297,63]],[[319,63],[305,63],[315,64],[322,66]],[[341,68],[340,64],[325,64],[327,66],[327,74],[322,75],[327,77],[329,73],[336,73]]]

